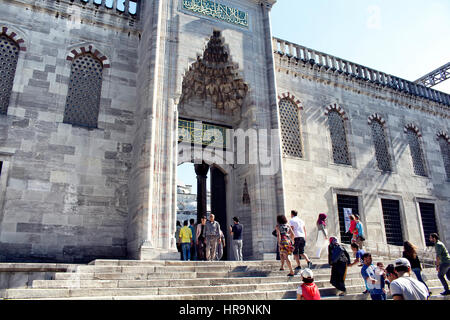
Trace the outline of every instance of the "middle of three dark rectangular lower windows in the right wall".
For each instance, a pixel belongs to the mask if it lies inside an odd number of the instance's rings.
[[[403,231],[400,218],[400,201],[381,199],[381,207],[383,209],[387,243],[394,246],[402,246]]]

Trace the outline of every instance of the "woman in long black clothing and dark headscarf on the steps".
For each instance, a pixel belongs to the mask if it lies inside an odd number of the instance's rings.
[[[345,276],[349,263],[350,256],[345,248],[339,244],[337,238],[330,237],[330,245],[328,246],[328,264],[331,266],[330,283],[338,290],[340,296],[344,296],[347,291]]]

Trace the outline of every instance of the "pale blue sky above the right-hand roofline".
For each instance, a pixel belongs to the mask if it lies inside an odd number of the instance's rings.
[[[450,62],[449,0],[278,0],[271,15],[274,37],[406,80]]]

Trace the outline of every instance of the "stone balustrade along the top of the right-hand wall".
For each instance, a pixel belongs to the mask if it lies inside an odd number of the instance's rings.
[[[285,40],[273,38],[273,50],[289,58],[295,58],[305,64],[316,65],[330,72],[345,74],[362,81],[386,86],[394,90],[426,98],[450,106],[450,95],[404,80],[368,67],[346,61],[332,55],[309,49]]]

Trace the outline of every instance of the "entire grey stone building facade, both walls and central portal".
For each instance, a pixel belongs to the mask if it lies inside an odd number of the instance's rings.
[[[0,115],[0,259],[170,257],[176,251],[177,166],[191,160],[226,174],[226,220],[241,217],[248,259],[275,251],[276,215],[291,209],[301,213],[309,234],[317,214],[328,212],[337,234],[341,193],[358,195],[370,240],[386,242],[382,197],[400,200],[403,236],[420,245],[418,201],[435,203],[447,240],[450,186],[436,134],[448,136],[448,95],[420,97],[364,79],[367,72],[381,80],[380,72],[360,68],[358,78],[327,63],[301,61],[272,41],[274,2],[221,0],[239,10],[225,19],[189,9],[194,2],[184,0],[140,1],[137,15],[92,1],[2,1],[0,33],[20,52],[7,115]],[[71,62],[84,52],[103,64],[92,129],[63,121]],[[222,82],[195,86],[195,78],[208,72],[199,61]],[[211,94],[202,95],[202,88]],[[224,98],[228,94],[234,95]],[[179,118],[244,131],[279,129],[283,97],[301,107],[303,158],[281,160],[280,136],[272,141],[280,153],[272,159],[282,168],[267,175],[259,163],[179,154]],[[345,113],[351,165],[332,161],[325,114],[333,108]],[[385,121],[389,174],[376,165],[368,121],[377,115]],[[412,174],[404,133],[410,124],[421,133],[427,177]],[[249,148],[248,156],[258,154],[256,146]],[[238,149],[232,144],[224,157],[236,157]]]

